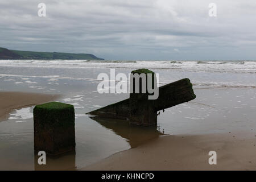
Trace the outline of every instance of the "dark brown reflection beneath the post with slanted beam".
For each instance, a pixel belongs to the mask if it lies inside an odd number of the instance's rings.
[[[90,117],[94,121],[97,121],[106,129],[114,131],[114,133],[120,135],[122,138],[127,139],[131,148],[137,147],[139,144],[146,142],[147,140],[154,139],[163,135],[157,126],[137,126],[131,125],[128,121],[121,119],[108,119],[100,117]]]

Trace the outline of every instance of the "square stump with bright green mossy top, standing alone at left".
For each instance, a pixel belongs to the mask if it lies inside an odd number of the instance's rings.
[[[49,155],[74,151],[75,109],[73,105],[49,102],[34,108],[34,150]]]

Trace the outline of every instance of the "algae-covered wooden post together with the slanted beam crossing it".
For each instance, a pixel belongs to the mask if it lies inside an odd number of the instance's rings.
[[[156,84],[156,75],[154,72],[148,69],[138,69],[133,72],[133,74],[138,74],[137,81],[139,82],[139,88],[135,92],[134,81],[130,79],[130,98],[111,104],[100,109],[91,111],[87,114],[96,115],[103,118],[119,118],[119,119],[129,119],[131,124],[142,125],[142,126],[151,126],[156,125],[157,123],[157,114],[159,110],[167,109],[184,102],[191,101],[196,98],[196,95],[193,92],[193,85],[191,84],[188,78],[184,78],[179,81],[172,82],[170,84],[160,86],[158,89],[154,87]],[[143,74],[146,76],[146,79],[143,79]],[[147,84],[151,80],[148,80],[148,75],[152,78],[151,85],[153,88],[151,90],[158,91],[156,94],[157,98],[155,100],[150,100],[150,96],[153,94],[148,92],[148,89],[151,86]],[[144,82],[142,82],[144,80]],[[144,85],[144,86],[142,86]],[[146,92],[143,92],[143,89],[147,88]]]

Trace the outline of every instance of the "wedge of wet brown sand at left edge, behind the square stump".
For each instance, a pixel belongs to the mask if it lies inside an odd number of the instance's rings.
[[[9,113],[14,109],[24,106],[43,104],[53,101],[60,96],[38,93],[22,92],[0,92],[0,121],[6,119]]]

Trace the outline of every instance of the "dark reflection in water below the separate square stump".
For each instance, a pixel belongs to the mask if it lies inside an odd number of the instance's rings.
[[[59,171],[59,170],[76,170],[76,152],[68,152],[66,154],[50,156],[46,154],[46,165],[39,165],[38,152],[34,153],[35,171]]]

